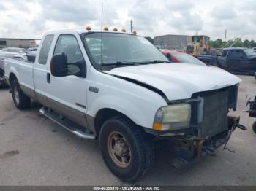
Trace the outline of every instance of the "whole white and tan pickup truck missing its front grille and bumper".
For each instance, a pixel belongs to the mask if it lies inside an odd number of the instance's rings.
[[[48,32],[34,63],[7,58],[5,76],[18,109],[34,99],[70,132],[99,139],[106,165],[124,181],[153,165],[161,139],[195,161],[243,128],[228,117],[236,110],[238,77],[214,66],[169,63],[135,34]]]

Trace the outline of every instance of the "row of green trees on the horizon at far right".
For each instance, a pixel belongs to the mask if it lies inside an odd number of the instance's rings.
[[[241,38],[236,38],[233,40],[229,40],[227,42],[222,41],[222,39],[217,39],[215,41],[211,40],[211,47],[214,48],[222,48],[222,47],[246,47],[252,48],[256,47],[256,42],[254,40],[249,41],[248,39],[242,40]]]

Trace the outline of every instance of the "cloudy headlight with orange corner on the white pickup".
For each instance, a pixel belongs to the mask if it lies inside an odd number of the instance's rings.
[[[154,119],[154,130],[179,130],[189,128],[190,104],[175,104],[158,109]]]

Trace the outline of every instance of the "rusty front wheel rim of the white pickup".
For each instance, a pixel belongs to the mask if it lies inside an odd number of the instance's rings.
[[[127,139],[119,132],[108,136],[108,153],[116,165],[127,168],[132,160],[131,149]]]

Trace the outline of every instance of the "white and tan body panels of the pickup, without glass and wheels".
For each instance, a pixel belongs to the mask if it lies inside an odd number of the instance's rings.
[[[215,120],[212,119],[211,116],[206,117],[206,119],[203,118],[203,108],[206,108],[207,111],[209,111],[209,109],[211,110],[211,108],[206,107],[206,104],[214,107],[211,101],[207,101],[213,96],[217,96],[213,97],[214,99],[224,98],[224,100],[222,100],[225,101],[223,104],[228,105],[228,108],[236,109],[238,83],[241,82],[241,80],[233,74],[214,66],[195,66],[189,63],[160,62],[119,67],[121,63],[117,62],[117,67],[113,67],[112,69],[97,69],[97,67],[94,66],[94,61],[89,52],[98,51],[98,49],[93,47],[89,51],[87,45],[83,42],[84,36],[90,36],[91,34],[97,35],[97,33],[100,32],[49,32],[42,38],[34,63],[6,58],[5,76],[9,79],[11,86],[13,80],[17,80],[18,85],[26,96],[39,101],[42,105],[53,109],[53,111],[76,122],[78,125],[91,130],[95,137],[99,137],[100,127],[98,126],[99,124],[102,125],[99,120],[108,117],[112,112],[129,118],[135,125],[143,128],[146,133],[151,133],[154,136],[175,137],[176,135],[184,136],[186,133],[182,130],[179,130],[178,134],[173,133],[174,131],[171,129],[166,131],[157,130],[156,117],[158,117],[159,109],[172,106],[173,103],[190,104],[195,101],[195,103],[199,104],[196,107],[191,105],[192,110],[189,112],[188,117],[191,117],[191,119],[192,117],[196,118],[198,122],[203,125],[212,123],[212,121],[207,123],[204,120]],[[113,34],[113,36],[120,35],[123,37],[127,35],[127,38],[133,38],[130,36],[132,34],[118,32],[105,31],[103,34],[105,36]],[[86,74],[84,74],[83,77],[78,75],[56,77],[56,75],[53,74],[55,70],[52,69],[53,58],[55,56],[54,52],[58,49],[56,44],[59,43],[59,40],[62,40],[61,38],[63,38],[63,36],[66,36],[66,38],[67,36],[71,36],[70,38],[75,37],[79,51],[77,50],[74,54],[79,55],[77,52],[81,53],[86,68]],[[145,46],[151,46],[147,44],[148,42],[144,42],[141,37],[138,38],[140,38],[140,41],[142,41]],[[45,64],[42,64],[40,56],[41,53],[42,55],[45,54],[45,47],[47,47],[44,45],[44,42],[49,45],[47,57],[44,58]],[[64,48],[67,49],[67,46],[64,46]],[[157,49],[154,51],[157,51]],[[69,52],[67,52],[67,54],[69,54]],[[69,56],[66,57],[67,60]],[[161,57],[161,55],[159,55],[159,57]],[[12,91],[13,90],[15,89],[12,88]],[[205,94],[207,94],[208,97]],[[13,96],[15,98],[15,95]],[[206,98],[204,96],[206,96]],[[230,98],[232,101],[230,101]],[[214,101],[217,100],[215,99]],[[222,103],[222,101],[219,102]],[[218,103],[216,106],[222,107],[222,105]],[[193,114],[195,109],[198,114]],[[215,128],[215,126],[213,126],[209,127],[209,130],[206,132],[203,131],[204,127],[202,128],[199,125],[197,126],[197,131],[200,133],[200,136],[195,137],[195,141],[198,139],[208,139],[223,130],[227,131],[227,125],[225,125],[227,116],[220,116],[222,114],[226,115],[227,110],[225,110],[225,108],[223,110],[222,107],[220,112],[212,112],[212,117],[219,119],[215,125],[217,131],[214,131],[214,133],[213,130],[211,130],[211,128]],[[220,124],[224,124],[226,127],[221,130],[221,127],[219,127],[221,126]],[[174,124],[174,126],[175,125],[176,124]],[[163,126],[166,127],[166,124]],[[187,130],[189,130],[189,127],[187,127]]]

